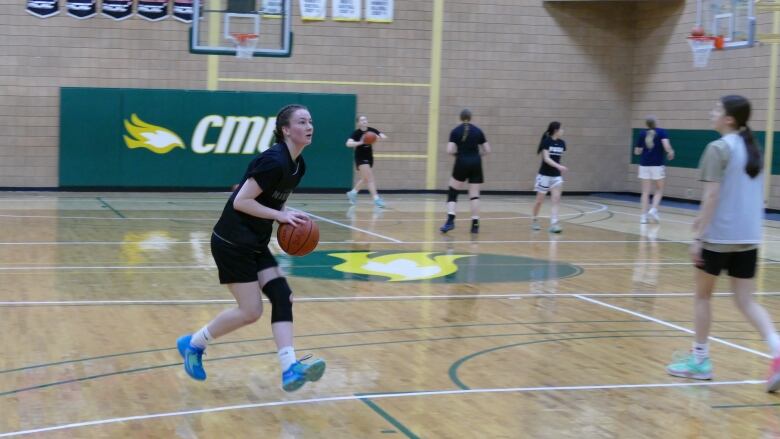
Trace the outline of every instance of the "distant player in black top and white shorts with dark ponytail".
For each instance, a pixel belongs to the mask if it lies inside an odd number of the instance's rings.
[[[536,184],[534,189],[536,190],[536,201],[534,202],[534,217],[531,223],[531,228],[534,230],[540,230],[539,225],[539,210],[542,208],[544,197],[547,192],[552,192],[550,195],[552,206],[550,207],[550,228],[551,233],[561,233],[561,226],[558,224],[558,206],[561,202],[561,193],[563,192],[563,177],[562,174],[568,171],[566,166],[561,164],[561,157],[563,152],[566,151],[566,142],[561,139],[563,135],[563,128],[561,128],[560,122],[550,122],[547,126],[547,131],[542,135],[542,140],[539,141],[539,147],[536,149],[536,154],[542,153],[542,165],[539,167],[539,174],[536,176]]]

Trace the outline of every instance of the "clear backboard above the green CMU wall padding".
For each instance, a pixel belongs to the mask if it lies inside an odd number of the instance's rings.
[[[290,56],[291,0],[194,0],[190,52],[236,55],[246,34],[257,35],[251,56]]]

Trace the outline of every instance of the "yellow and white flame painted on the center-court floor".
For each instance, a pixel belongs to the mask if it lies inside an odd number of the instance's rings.
[[[344,262],[333,267],[343,273],[382,276],[390,282],[433,279],[458,271],[455,261],[473,255],[438,255],[433,253],[395,253],[369,258],[375,252],[330,253]]]

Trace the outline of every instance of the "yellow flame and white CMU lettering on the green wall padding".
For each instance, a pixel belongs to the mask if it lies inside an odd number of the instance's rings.
[[[145,148],[155,154],[187,148],[174,131],[148,123],[135,113],[125,119],[124,125],[128,148]],[[270,148],[275,126],[276,117],[210,114],[195,124],[190,149],[195,154],[257,154]]]

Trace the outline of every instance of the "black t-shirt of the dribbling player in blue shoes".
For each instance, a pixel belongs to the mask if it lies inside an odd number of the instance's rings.
[[[236,211],[233,201],[238,191],[246,180],[254,178],[263,191],[255,200],[271,209],[282,210],[287,197],[298,186],[304,173],[306,163],[303,156],[293,160],[284,143],[277,143],[263,151],[247,167],[241,185],[225,204],[222,216],[214,226],[214,232],[223,239],[244,247],[260,248],[267,245],[274,221]]]

